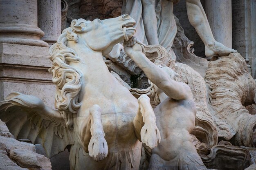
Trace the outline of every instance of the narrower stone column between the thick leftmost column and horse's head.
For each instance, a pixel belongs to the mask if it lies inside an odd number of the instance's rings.
[[[61,34],[61,0],[38,0],[38,26],[45,32],[41,38],[54,44]]]

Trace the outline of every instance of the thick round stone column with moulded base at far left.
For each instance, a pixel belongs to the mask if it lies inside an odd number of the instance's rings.
[[[0,43],[48,46],[37,27],[37,0],[0,0]]]

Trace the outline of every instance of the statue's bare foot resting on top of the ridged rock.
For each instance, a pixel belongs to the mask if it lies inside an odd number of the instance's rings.
[[[225,45],[221,44],[220,42],[214,42],[213,44],[209,44],[205,46],[205,56],[210,57],[213,55],[229,55],[230,53],[237,53],[236,50],[230,49]]]

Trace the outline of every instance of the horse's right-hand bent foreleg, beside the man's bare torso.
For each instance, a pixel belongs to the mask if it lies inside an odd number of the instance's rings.
[[[141,95],[138,99],[138,113],[133,119],[135,131],[140,132],[140,140],[149,148],[155,148],[160,143],[160,132],[156,126],[155,113],[147,95]],[[138,135],[137,135],[138,136]]]

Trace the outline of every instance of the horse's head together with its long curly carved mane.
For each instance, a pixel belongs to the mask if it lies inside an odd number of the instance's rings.
[[[70,113],[76,114],[81,106],[78,97],[82,74],[68,64],[81,61],[74,47],[77,46],[78,49],[87,49],[92,52],[101,51],[103,55],[107,54],[115,44],[132,37],[136,31],[135,28],[132,28],[134,25],[135,20],[129,15],[121,15],[106,20],[73,20],[71,26],[63,30],[58,41],[51,46],[49,51],[50,60],[53,62],[49,71],[52,72],[53,82],[58,88],[55,103],[58,110],[68,110]],[[70,48],[71,46],[72,48]],[[71,86],[73,90],[69,91]],[[68,124],[72,125],[72,121]]]

